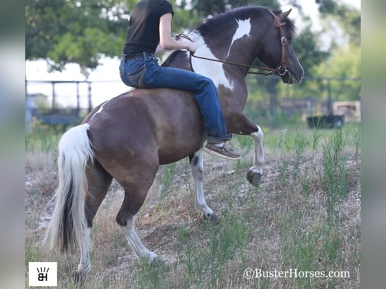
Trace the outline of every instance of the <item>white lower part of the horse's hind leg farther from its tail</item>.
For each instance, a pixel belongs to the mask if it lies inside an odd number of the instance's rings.
[[[144,244],[142,244],[140,238],[138,238],[138,235],[136,231],[134,230],[134,224],[136,222],[137,215],[133,216],[132,220],[127,220],[126,226],[122,227],[119,226],[124,235],[127,238],[128,243],[130,246],[132,246],[134,252],[136,253],[138,259],[144,260],[150,264],[156,257],[157,254],[149,251],[146,249]]]

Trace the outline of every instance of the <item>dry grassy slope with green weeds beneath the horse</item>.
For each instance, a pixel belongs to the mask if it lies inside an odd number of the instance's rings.
[[[359,126],[263,131],[266,165],[258,188],[245,179],[253,158],[250,138],[234,136],[232,144],[243,155],[238,162],[204,156],[205,197],[220,217],[217,226],[201,220],[194,208],[188,162],[160,168],[136,230],[165,267],[138,262],[127,245],[115,223],[122,189],[114,181],[94,220],[92,271],[84,288],[359,288]],[[45,134],[51,136],[42,141]],[[46,130],[26,138],[26,265],[57,261],[58,287],[75,288],[71,273],[79,253],[62,257],[41,245],[39,223],[56,185],[57,139]],[[247,279],[247,268],[350,276]]]

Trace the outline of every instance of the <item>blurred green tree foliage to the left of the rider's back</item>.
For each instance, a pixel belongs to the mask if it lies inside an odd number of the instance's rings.
[[[49,59],[59,70],[79,63],[87,77],[103,55],[120,54],[131,2],[27,0],[26,59]]]

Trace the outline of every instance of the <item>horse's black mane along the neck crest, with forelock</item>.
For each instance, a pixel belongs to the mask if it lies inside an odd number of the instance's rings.
[[[279,11],[272,11],[276,15],[282,13]],[[195,30],[197,30],[202,37],[210,37],[211,34],[218,34],[229,21],[234,19],[245,20],[252,17],[264,17],[270,14],[270,10],[266,7],[260,6],[244,6],[229,10],[227,12],[217,14],[212,18],[204,19]],[[289,36],[293,36],[296,34],[296,27],[294,23],[290,19],[286,19],[286,27],[288,29]],[[176,55],[181,52],[180,50],[173,51],[165,60],[164,63],[171,61]]]

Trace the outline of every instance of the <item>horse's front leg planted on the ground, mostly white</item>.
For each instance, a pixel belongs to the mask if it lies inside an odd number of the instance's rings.
[[[208,207],[203,190],[203,179],[204,179],[204,160],[203,160],[203,150],[202,148],[189,156],[190,170],[191,175],[195,181],[195,192],[196,200],[195,205],[196,209],[201,212],[201,215],[205,219],[209,219],[214,224],[218,224],[218,216],[213,212],[213,210]]]

